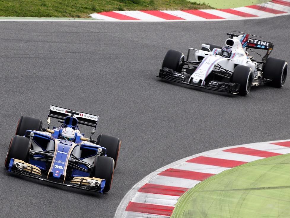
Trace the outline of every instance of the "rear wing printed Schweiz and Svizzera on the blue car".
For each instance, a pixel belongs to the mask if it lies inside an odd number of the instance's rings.
[[[61,108],[55,105],[50,105],[47,120],[50,117],[64,120],[67,116],[71,116],[71,113],[69,113],[68,111],[71,111],[71,110],[68,108]],[[77,113],[79,113],[79,115],[75,114],[74,117],[77,118],[78,124],[82,124],[82,125],[90,126],[90,127],[97,126],[99,116],[89,114],[89,113],[83,113],[79,111],[77,111]],[[49,124],[50,122],[47,121],[47,123]]]

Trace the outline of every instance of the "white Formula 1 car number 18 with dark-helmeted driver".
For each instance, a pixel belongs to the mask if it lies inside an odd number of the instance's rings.
[[[268,84],[281,88],[288,64],[281,59],[268,58],[273,43],[260,36],[234,32],[239,35],[227,33],[226,46],[202,44],[201,50],[189,48],[186,59],[182,52],[169,50],[157,77],[243,96],[250,92],[251,86]],[[249,55],[251,52],[258,54],[253,49],[267,50],[261,61]],[[195,60],[189,60],[191,52]]]

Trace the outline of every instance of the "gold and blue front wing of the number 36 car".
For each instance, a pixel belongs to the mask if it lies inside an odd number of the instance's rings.
[[[74,177],[68,184],[51,181],[51,180],[41,177],[42,173],[38,167],[31,165],[29,163],[26,163],[22,160],[18,160],[14,158],[11,158],[10,160],[8,172],[17,173],[22,176],[27,176],[30,178],[35,178],[35,179],[39,179],[39,180],[43,180],[43,181],[47,181],[47,182],[51,182],[51,183],[55,183],[59,185],[83,189],[87,191],[101,192],[101,193],[103,193],[103,189],[106,183],[105,179],[100,179],[100,178],[95,178],[95,177],[93,178],[82,177],[82,176]]]

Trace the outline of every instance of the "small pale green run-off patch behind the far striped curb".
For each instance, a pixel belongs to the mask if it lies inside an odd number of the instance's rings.
[[[253,4],[262,4],[269,0],[226,0],[226,1],[214,1],[214,0],[189,0],[196,3],[204,3],[216,9],[227,9],[227,8],[235,8],[235,7],[243,7],[247,5]]]

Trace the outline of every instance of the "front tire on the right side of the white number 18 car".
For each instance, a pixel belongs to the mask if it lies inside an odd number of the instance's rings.
[[[250,93],[252,80],[253,73],[251,68],[243,65],[238,65],[234,69],[230,82],[240,84],[238,95],[246,96]]]

